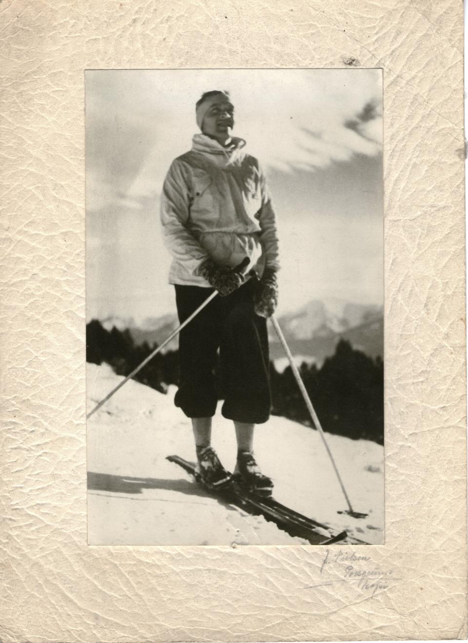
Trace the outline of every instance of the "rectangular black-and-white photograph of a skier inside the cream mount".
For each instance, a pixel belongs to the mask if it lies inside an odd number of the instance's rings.
[[[86,71],[90,545],[384,543],[382,87]]]

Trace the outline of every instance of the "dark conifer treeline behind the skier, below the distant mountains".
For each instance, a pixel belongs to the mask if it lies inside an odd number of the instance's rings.
[[[107,331],[100,321],[86,326],[86,359],[94,364],[109,364],[118,375],[127,376],[156,345],[135,345],[128,330],[115,327]],[[303,363],[300,367],[305,388],[320,418],[323,430],[363,438],[383,444],[384,440],[384,370],[381,358],[372,359],[340,340],[335,354],[325,359],[321,368]],[[273,415],[282,415],[313,426],[291,367],[280,373],[270,363]],[[179,379],[177,350],[156,355],[135,376],[136,381],[167,392],[168,385]]]

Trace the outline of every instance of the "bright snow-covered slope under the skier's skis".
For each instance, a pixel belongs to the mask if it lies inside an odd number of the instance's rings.
[[[87,364],[88,410],[122,377]],[[129,381],[88,421],[88,541],[91,545],[297,545],[309,543],[249,516],[200,489],[166,460],[194,460],[190,421],[163,395]],[[275,480],[279,502],[368,543],[383,543],[383,448],[374,442],[327,435],[345,486],[363,520],[347,509],[317,431],[271,417],[255,434],[257,460]],[[213,446],[235,464],[231,422],[218,413]]]

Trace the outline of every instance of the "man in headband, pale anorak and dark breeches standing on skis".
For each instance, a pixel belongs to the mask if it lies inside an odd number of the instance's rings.
[[[206,485],[230,484],[211,446],[217,406],[214,367],[220,351],[225,399],[222,415],[237,436],[235,477],[269,495],[270,478],[253,457],[255,424],[269,419],[266,318],[278,300],[278,237],[266,179],[257,159],[231,136],[234,107],[226,91],[204,93],[196,105],[192,150],[176,158],[161,198],[165,244],[172,254],[169,282],[183,321],[217,290],[219,296],[181,331],[180,382],[175,403],[192,426],[197,473]]]

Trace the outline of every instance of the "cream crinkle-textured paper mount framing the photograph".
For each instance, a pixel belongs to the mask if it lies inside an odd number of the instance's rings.
[[[3,0],[0,16],[3,643],[464,638],[460,0]],[[354,551],[386,587],[332,561],[324,583],[320,547],[88,547],[84,70],[347,64],[384,74],[386,543]]]

